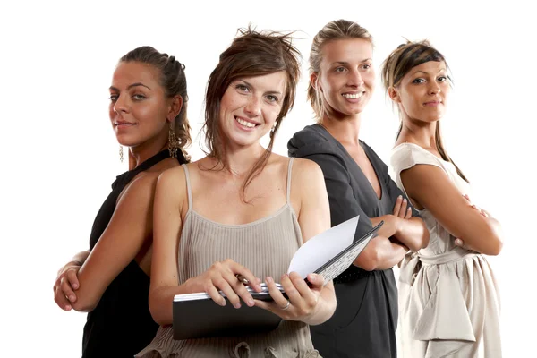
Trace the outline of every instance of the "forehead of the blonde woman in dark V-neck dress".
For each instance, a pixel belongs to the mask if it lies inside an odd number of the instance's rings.
[[[373,57],[371,42],[365,38],[345,38],[328,41],[321,47],[321,63],[361,63]]]

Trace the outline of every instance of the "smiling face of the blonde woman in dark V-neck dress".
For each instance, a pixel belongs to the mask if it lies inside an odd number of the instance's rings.
[[[323,45],[320,72],[311,74],[311,83],[323,98],[329,113],[354,117],[362,113],[375,87],[373,48],[364,38],[346,38]]]

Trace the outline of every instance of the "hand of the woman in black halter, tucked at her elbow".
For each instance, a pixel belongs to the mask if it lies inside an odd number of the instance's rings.
[[[74,290],[80,287],[78,271],[81,269],[80,261],[69,261],[58,271],[54,284],[54,301],[64,311],[71,311],[76,301]]]

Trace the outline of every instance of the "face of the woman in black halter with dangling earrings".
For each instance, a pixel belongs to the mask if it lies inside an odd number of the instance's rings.
[[[109,115],[120,144],[136,147],[166,135],[171,103],[159,83],[159,75],[149,64],[117,65],[110,86]]]

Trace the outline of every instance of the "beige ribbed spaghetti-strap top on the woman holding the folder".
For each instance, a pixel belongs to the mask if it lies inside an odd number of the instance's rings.
[[[256,277],[281,277],[294,252],[302,245],[302,233],[289,202],[291,168],[287,173],[286,205],[269,217],[250,224],[223,225],[192,210],[192,188],[187,166],[189,211],[179,245],[179,283],[205,272],[217,260],[227,258],[250,268]],[[216,304],[216,303],[215,303]],[[201,313],[200,313],[201,314]],[[137,357],[267,357],[314,358],[310,328],[303,322],[283,321],[271,332],[244,337],[210,337],[177,341],[171,327],[159,328],[157,337]]]

